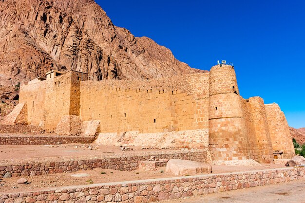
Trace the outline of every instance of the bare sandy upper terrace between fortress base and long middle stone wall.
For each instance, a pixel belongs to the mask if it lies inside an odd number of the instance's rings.
[[[89,146],[91,146],[92,150],[88,148]],[[158,149],[141,149],[140,147],[132,148],[132,151],[120,151],[120,147],[118,146],[96,144],[0,145],[0,160],[158,151]]]

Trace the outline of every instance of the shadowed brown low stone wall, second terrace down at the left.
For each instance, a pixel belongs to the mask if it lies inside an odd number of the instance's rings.
[[[94,140],[94,136],[0,135],[0,145],[61,145],[69,143],[92,143]]]

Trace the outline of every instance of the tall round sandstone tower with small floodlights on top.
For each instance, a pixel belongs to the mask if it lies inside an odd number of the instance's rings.
[[[209,148],[215,164],[250,158],[243,109],[234,67],[213,66],[209,90]]]

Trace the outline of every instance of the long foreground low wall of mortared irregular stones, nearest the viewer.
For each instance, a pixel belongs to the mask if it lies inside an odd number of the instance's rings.
[[[0,193],[0,203],[150,203],[286,183],[305,178],[305,168],[279,168]]]

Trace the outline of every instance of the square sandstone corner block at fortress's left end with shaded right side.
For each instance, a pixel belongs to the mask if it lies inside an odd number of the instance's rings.
[[[63,116],[79,116],[79,85],[80,80],[86,79],[87,74],[68,71],[21,86],[20,102],[28,104],[29,125],[41,125],[47,131],[55,131]]]

